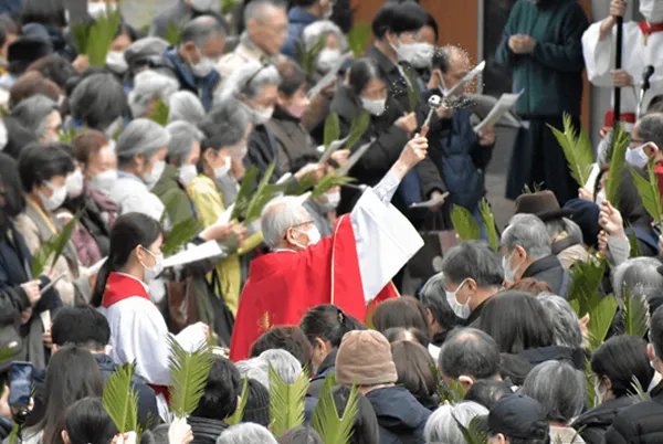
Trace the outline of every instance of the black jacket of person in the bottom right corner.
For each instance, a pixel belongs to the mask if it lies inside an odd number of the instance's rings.
[[[643,401],[620,412],[606,432],[606,444],[660,444],[663,442],[663,382]]]

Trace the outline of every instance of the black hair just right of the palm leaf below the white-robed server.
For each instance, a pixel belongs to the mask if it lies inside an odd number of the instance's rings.
[[[192,415],[222,421],[238,409],[241,391],[242,378],[235,364],[227,358],[215,356],[202,398]]]

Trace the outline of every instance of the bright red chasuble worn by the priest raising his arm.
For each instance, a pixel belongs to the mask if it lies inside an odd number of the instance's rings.
[[[373,304],[398,297],[388,284]],[[251,346],[274,326],[297,325],[311,308],[334,304],[364,320],[366,300],[357,257],[357,243],[348,214],[330,237],[303,252],[275,252],[251,263],[250,277],[240,298],[230,359],[249,358]]]

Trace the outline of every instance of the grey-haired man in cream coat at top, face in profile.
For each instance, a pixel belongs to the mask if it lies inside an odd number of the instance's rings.
[[[281,56],[287,38],[285,4],[278,0],[253,0],[244,9],[246,31],[235,50],[219,62],[219,72],[228,77],[246,62],[271,63]]]

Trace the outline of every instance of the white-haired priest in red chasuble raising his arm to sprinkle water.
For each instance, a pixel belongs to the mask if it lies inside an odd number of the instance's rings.
[[[262,232],[273,253],[251,263],[231,359],[245,359],[264,330],[298,324],[309,307],[334,304],[364,319],[367,303],[396,295],[391,278],[423,242],[389,202],[427,148],[423,137],[410,140],[385,179],[364,192],[349,215],[339,218],[330,237],[320,240],[297,198],[281,198],[264,209]]]

